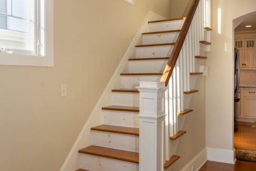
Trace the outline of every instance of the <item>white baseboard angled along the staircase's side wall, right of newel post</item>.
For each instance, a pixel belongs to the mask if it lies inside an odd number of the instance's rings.
[[[191,171],[192,166],[195,164],[195,170],[199,170],[202,165],[207,161],[207,151],[204,148],[200,153],[198,153],[193,159],[191,159],[186,166],[184,166],[180,171]]]

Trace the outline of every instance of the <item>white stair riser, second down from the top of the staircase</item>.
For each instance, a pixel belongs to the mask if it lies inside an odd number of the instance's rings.
[[[142,45],[176,42],[179,32],[142,35]]]

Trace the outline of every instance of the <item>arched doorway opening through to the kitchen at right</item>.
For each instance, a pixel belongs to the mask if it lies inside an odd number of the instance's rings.
[[[234,148],[256,162],[256,12],[234,20]]]

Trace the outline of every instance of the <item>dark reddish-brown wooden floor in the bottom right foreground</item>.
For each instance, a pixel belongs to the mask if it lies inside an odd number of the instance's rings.
[[[226,164],[207,161],[199,171],[253,171],[256,170],[256,163],[237,161],[236,164]]]

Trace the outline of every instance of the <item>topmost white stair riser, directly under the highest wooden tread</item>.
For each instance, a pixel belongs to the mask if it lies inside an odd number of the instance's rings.
[[[184,20],[173,20],[169,22],[149,23],[148,27],[150,28],[150,32],[168,31],[182,29],[183,24]]]

